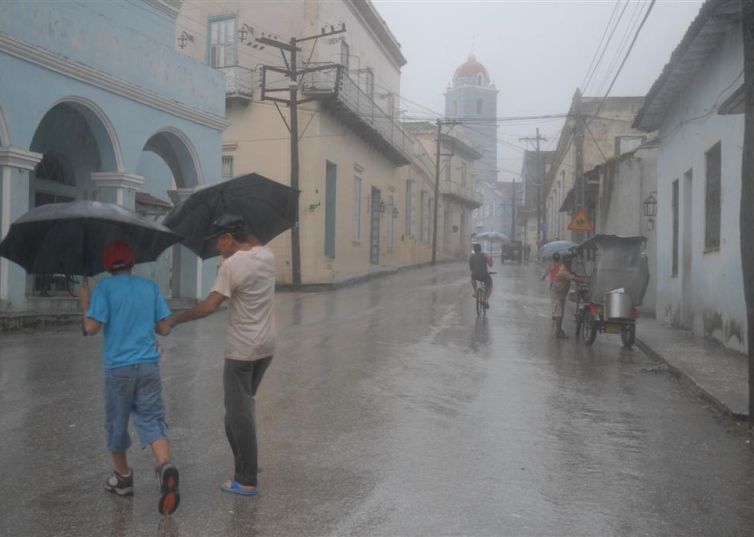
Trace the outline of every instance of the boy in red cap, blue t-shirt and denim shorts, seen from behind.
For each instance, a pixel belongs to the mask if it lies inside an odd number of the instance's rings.
[[[170,310],[156,283],[131,274],[134,253],[124,242],[114,242],[103,253],[111,277],[92,291],[79,291],[84,310],[84,331],[105,333],[105,429],[107,449],[115,470],[105,490],[133,495],[133,472],[126,451],[131,446],[129,417],[139,432],[142,449],[150,446],[160,476],[158,510],[171,514],[180,502],[178,470],[170,463],[165,405],[160,381],[160,350],[155,332],[166,336]]]

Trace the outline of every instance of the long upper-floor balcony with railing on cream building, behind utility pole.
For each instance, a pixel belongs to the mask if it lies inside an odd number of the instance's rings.
[[[411,138],[384,112],[342,66],[304,75],[304,95],[321,100],[338,119],[351,126],[394,164],[411,163]]]

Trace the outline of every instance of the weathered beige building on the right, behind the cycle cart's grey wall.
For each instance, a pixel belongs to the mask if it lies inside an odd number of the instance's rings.
[[[643,97],[582,97],[576,90],[545,178],[545,240],[585,238],[568,230],[579,208],[586,209],[594,224],[596,206],[590,200],[596,185],[583,180],[584,172],[645,141],[646,134],[631,127],[643,101]]]

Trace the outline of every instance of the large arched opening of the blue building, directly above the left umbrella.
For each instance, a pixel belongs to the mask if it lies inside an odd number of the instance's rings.
[[[77,199],[95,199],[92,173],[122,171],[114,129],[91,101],[69,97],[42,117],[29,149],[42,155],[29,177],[29,205],[37,207]],[[27,293],[67,293],[65,278],[29,278]]]

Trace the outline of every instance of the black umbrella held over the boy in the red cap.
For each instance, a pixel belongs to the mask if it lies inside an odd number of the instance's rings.
[[[181,237],[125,207],[99,201],[52,203],[13,222],[0,255],[31,274],[94,276],[105,271],[102,252],[128,243],[136,263],[154,261]]]

